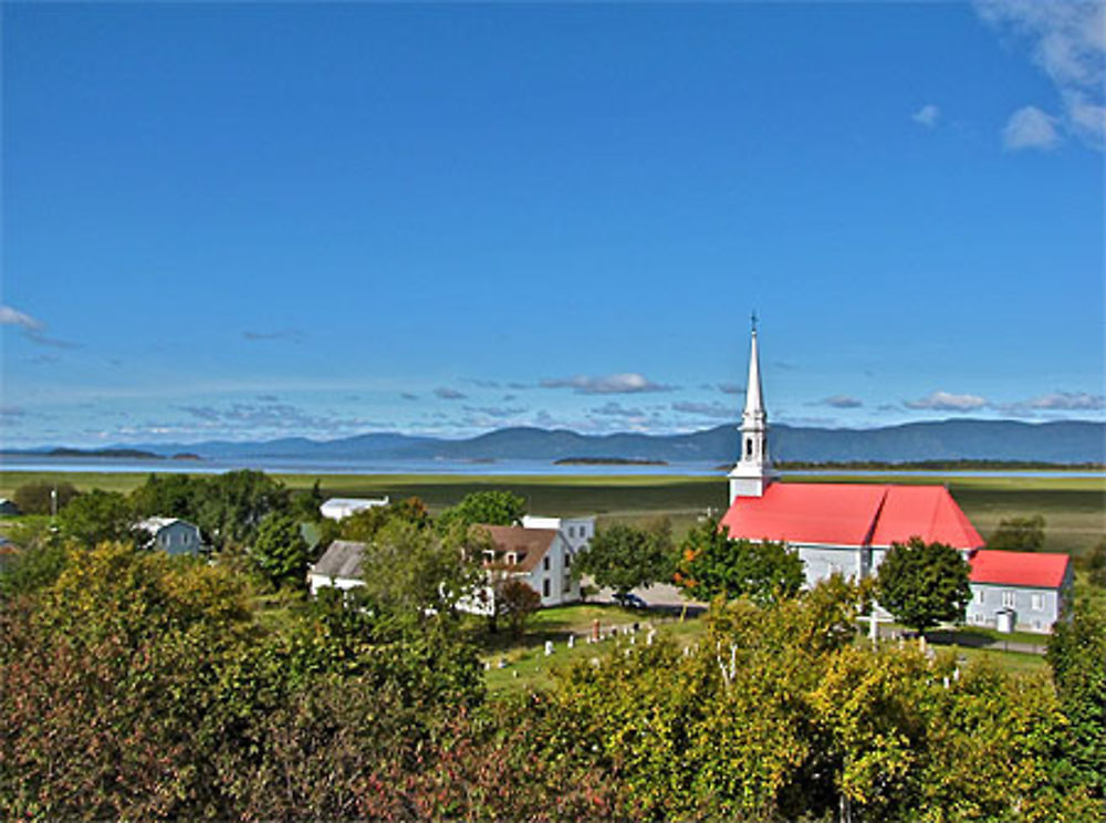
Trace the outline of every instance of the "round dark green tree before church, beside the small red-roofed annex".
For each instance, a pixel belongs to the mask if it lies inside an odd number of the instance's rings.
[[[876,574],[876,596],[896,619],[924,632],[963,619],[971,598],[968,572],[957,549],[914,536],[891,543]]]

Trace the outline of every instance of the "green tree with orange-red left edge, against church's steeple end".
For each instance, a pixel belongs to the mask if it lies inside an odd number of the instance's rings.
[[[742,595],[759,604],[794,596],[803,585],[803,561],[784,543],[731,540],[729,528],[707,518],[680,544],[676,582],[701,601]]]

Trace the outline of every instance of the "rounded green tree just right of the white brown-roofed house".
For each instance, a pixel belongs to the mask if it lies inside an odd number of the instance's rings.
[[[675,567],[672,531],[668,520],[647,529],[616,523],[601,529],[573,559],[576,580],[589,575],[596,585],[625,594],[632,588],[668,581]]]

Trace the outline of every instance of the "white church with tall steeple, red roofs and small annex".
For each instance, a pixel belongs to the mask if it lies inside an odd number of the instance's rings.
[[[912,536],[947,543],[971,565],[967,621],[1048,632],[1072,583],[1066,554],[990,551],[943,486],[779,482],[769,449],[755,321],[749,356],[741,454],[729,473],[721,524],[734,539],[785,542],[803,561],[806,584],[833,574],[874,574],[891,543]]]

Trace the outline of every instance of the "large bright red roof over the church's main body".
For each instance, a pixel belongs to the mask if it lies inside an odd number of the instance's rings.
[[[739,497],[721,521],[731,538],[824,545],[890,545],[912,536],[957,549],[983,544],[942,486],[772,483]]]

